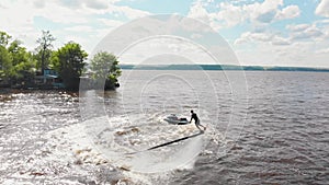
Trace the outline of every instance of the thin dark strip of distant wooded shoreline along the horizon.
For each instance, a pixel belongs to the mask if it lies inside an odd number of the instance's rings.
[[[120,65],[121,69],[134,70],[231,70],[231,71],[313,71],[329,72],[329,68],[262,67],[234,65]]]

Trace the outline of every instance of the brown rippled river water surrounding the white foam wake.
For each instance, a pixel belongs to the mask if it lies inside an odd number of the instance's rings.
[[[225,138],[211,141],[194,167],[173,170],[170,178],[138,174],[152,176],[149,184],[328,184],[329,73],[246,72],[246,79],[235,81],[241,85],[231,81],[241,77],[240,72],[229,72],[230,79],[215,71],[123,74],[116,92],[95,93],[99,101],[82,108],[75,93],[2,93],[0,183],[134,184],[138,181],[129,181],[134,177],[109,167],[111,164],[78,165],[70,159],[58,159],[54,150],[60,151],[60,144],[55,147],[44,136],[92,114],[189,116],[193,108],[206,112],[200,114],[201,119],[208,116],[213,122],[203,124],[211,124]],[[95,108],[100,102],[104,109]]]

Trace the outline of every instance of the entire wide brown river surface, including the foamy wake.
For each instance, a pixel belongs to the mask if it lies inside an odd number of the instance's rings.
[[[0,90],[0,184],[329,183],[329,73],[124,70],[120,82]],[[191,109],[204,134],[163,122]]]

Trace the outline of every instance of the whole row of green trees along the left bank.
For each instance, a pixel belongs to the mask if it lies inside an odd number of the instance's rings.
[[[78,90],[81,76],[88,73],[89,84],[93,86],[105,81],[103,88],[113,90],[121,76],[117,57],[100,51],[87,62],[88,54],[80,44],[68,42],[54,49],[56,38],[49,31],[42,31],[36,39],[36,48],[29,51],[22,42],[13,39],[0,31],[0,80],[10,86],[35,86],[35,77],[44,76],[45,69],[54,70],[69,90]]]

